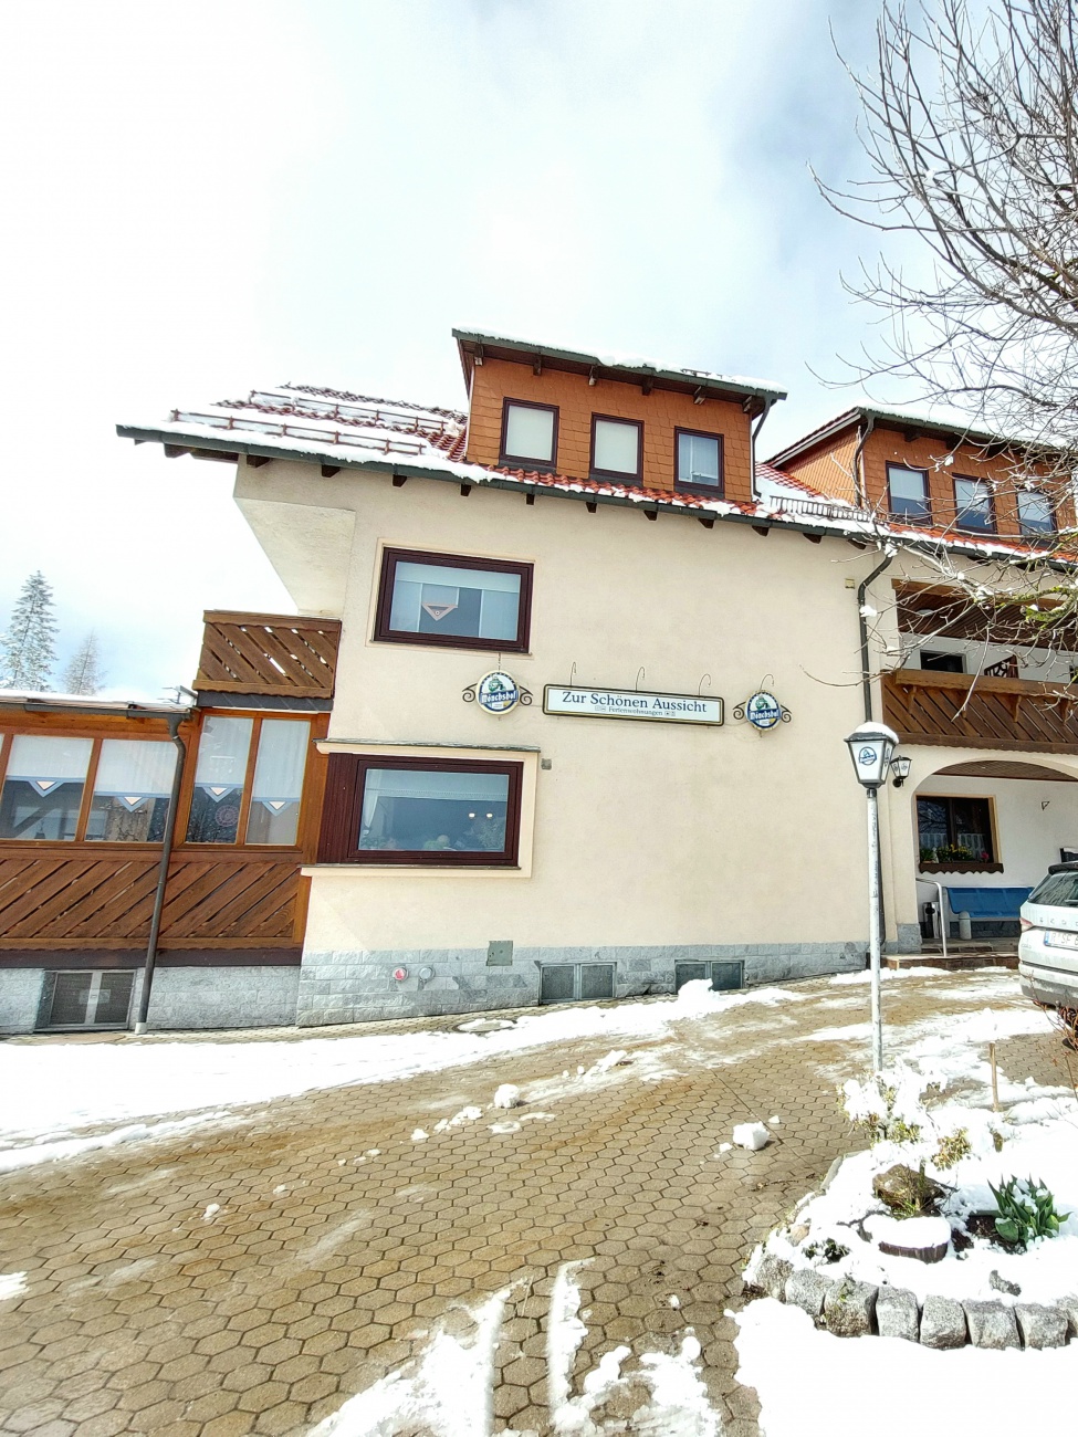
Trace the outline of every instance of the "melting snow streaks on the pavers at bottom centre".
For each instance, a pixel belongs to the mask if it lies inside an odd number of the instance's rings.
[[[700,1344],[693,1329],[683,1334],[674,1352],[645,1352],[631,1371],[622,1371],[630,1348],[605,1352],[584,1377],[573,1395],[572,1369],[588,1335],[581,1321],[581,1293],[573,1279],[582,1266],[563,1263],[555,1276],[546,1322],[546,1382],[550,1437],[614,1437],[634,1431],[641,1437],[719,1437],[719,1418],[700,1377]],[[469,1325],[467,1338],[443,1325],[424,1352],[364,1392],[349,1398],[309,1437],[490,1437],[497,1349],[506,1305],[513,1289],[494,1293],[482,1306],[456,1316]],[[642,1387],[648,1400],[628,1426],[605,1418],[602,1407],[628,1387]],[[515,1437],[509,1430],[505,1437]],[[517,1434],[522,1437],[522,1434]],[[535,1434],[532,1434],[535,1437]]]

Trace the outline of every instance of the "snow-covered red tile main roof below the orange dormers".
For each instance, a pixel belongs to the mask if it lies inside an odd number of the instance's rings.
[[[918,547],[946,546],[1002,559],[1044,553],[1018,539],[976,537],[946,529],[898,525],[884,514],[857,509],[812,489],[775,461],[757,464],[759,499],[747,504],[568,474],[474,464],[463,458],[466,417],[454,410],[313,385],[283,384],[252,389],[244,399],[223,399],[201,410],[172,410],[164,424],[121,424],[118,433],[141,441],[171,441],[181,448],[280,456],[352,471],[390,471],[526,493],[561,493],[596,503],[640,506],[645,512],[691,513],[704,520],[709,516],[734,522],[766,520],[769,525],[811,529],[812,533],[861,537],[868,543],[900,539]]]

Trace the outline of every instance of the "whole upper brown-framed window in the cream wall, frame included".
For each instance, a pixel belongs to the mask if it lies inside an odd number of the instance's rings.
[[[526,652],[532,565],[464,555],[387,549],[374,637]]]

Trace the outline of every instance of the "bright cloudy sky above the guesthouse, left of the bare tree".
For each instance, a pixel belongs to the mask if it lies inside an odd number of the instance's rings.
[[[454,325],[753,374],[762,454],[847,408],[877,251],[834,43],[875,0],[9,0],[0,628],[190,683],[204,608],[287,612],[224,466],[115,437],[282,381],[463,404]],[[832,33],[835,40],[832,40]]]

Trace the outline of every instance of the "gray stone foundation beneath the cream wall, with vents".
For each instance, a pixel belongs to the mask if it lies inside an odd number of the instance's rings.
[[[674,992],[677,963],[737,960],[745,983],[782,983],[864,967],[865,943],[740,943],[668,947],[516,948],[512,963],[487,964],[486,948],[391,948],[305,953],[296,1023],[369,1023],[437,1013],[486,1013],[539,1003],[543,964],[612,963],[614,996]],[[394,969],[408,976],[398,981]],[[433,977],[420,979],[420,969]]]

